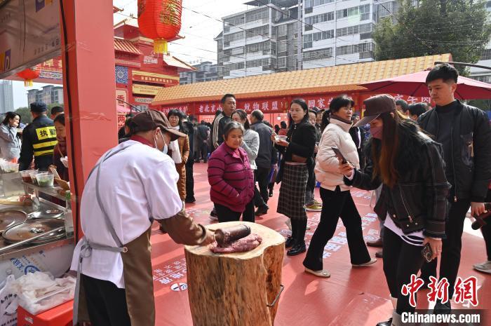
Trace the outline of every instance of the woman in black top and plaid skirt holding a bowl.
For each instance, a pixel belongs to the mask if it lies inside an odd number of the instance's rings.
[[[292,247],[286,254],[294,256],[305,252],[305,188],[309,178],[309,166],[314,164],[312,156],[316,147],[316,128],[309,123],[309,107],[302,99],[292,100],[290,105],[290,128],[286,140],[278,140],[276,133],[271,140],[282,154],[281,167],[276,183],[281,182],[276,212],[286,215],[292,222],[292,236],[285,246]]]

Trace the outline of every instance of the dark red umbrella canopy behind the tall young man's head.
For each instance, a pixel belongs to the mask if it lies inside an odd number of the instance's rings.
[[[360,83],[358,86],[368,88],[370,92],[396,93],[410,96],[428,97],[426,76],[429,71],[415,72],[396,76],[370,83]],[[459,100],[491,99],[491,84],[459,76],[455,97]]]

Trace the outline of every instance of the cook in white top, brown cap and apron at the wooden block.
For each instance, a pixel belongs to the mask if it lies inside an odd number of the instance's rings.
[[[173,130],[161,112],[137,114],[131,138],[107,151],[88,177],[81,200],[85,236],[74,250],[78,271],[74,325],[155,324],[150,231],[154,219],[177,243],[205,245],[213,233],[184,212],[173,160]]]

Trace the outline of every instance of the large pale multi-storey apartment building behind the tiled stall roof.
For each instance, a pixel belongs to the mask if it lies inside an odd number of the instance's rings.
[[[374,60],[375,24],[397,1],[259,0],[224,17],[215,38],[218,78]]]

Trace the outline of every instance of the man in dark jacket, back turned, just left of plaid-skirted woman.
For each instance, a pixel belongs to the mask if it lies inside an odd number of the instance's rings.
[[[255,188],[254,204],[257,207],[255,215],[260,216],[268,212],[268,184],[269,172],[271,171],[271,161],[273,155],[273,142],[271,142],[271,133],[273,129],[264,124],[264,114],[260,110],[254,110],[250,114],[250,128],[259,134],[259,151],[255,160],[257,169],[255,179],[259,184],[259,190]]]

